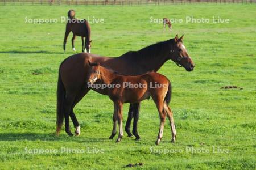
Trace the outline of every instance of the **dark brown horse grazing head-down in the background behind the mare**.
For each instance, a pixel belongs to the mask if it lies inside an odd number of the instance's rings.
[[[90,25],[86,19],[84,19],[84,20],[76,19],[74,10],[68,11],[68,22],[66,24],[65,37],[64,37],[64,42],[63,42],[64,51],[66,50],[68,34],[71,31],[73,33],[73,37],[71,40],[73,51],[76,51],[75,46],[74,46],[74,41],[76,39],[76,36],[81,36],[82,52],[84,52],[84,49],[86,49],[86,52],[90,53],[91,42],[92,42],[92,40],[90,40]],[[85,43],[84,43],[84,38],[85,38]]]

